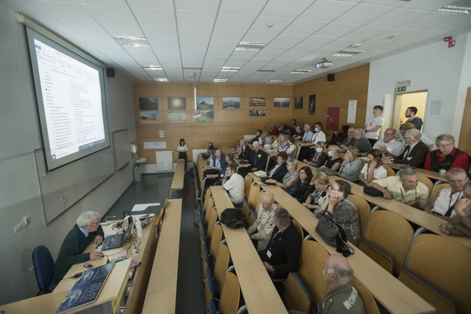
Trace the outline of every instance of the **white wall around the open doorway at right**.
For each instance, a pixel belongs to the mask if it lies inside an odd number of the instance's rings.
[[[373,61],[370,64],[367,118],[373,116],[373,106],[382,105],[386,93],[394,93],[396,81],[412,79],[407,91],[427,89],[427,109],[422,131],[430,138],[450,133],[460,138],[462,112],[469,86],[471,67],[471,36],[461,34],[456,46],[447,48],[439,41],[402,54]],[[469,65],[468,65],[469,64]],[[464,93],[464,96],[463,96]],[[430,101],[442,101],[439,116],[430,116]]]

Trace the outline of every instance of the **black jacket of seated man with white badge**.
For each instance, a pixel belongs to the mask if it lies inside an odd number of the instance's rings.
[[[275,273],[270,276],[275,279],[286,278],[289,273],[298,271],[303,244],[301,235],[293,223],[290,223],[285,231],[277,233],[278,228],[273,228],[268,245],[265,250],[259,252],[262,261],[273,266]],[[270,258],[267,255],[268,250],[271,253]]]

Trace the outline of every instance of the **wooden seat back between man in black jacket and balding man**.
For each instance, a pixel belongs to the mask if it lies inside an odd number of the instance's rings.
[[[328,251],[318,242],[304,241],[298,275],[316,304],[323,302],[325,289],[327,288],[322,268],[323,262],[328,256]]]

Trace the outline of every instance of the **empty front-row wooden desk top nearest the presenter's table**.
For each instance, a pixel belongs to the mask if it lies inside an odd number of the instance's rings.
[[[142,313],[175,313],[182,200],[167,201]]]

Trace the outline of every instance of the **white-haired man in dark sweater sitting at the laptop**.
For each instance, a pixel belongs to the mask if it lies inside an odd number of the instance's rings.
[[[100,214],[93,211],[81,213],[76,225],[67,233],[61,245],[54,264],[54,277],[49,290],[56,288],[73,265],[103,258],[104,254],[99,250],[93,250],[91,253],[83,253],[83,250],[92,242],[100,245],[103,243],[104,236],[105,233],[100,226]]]

